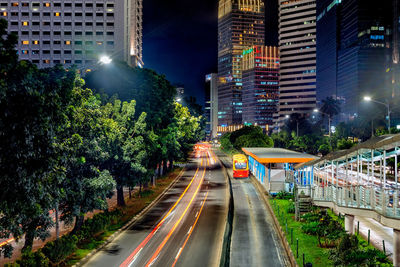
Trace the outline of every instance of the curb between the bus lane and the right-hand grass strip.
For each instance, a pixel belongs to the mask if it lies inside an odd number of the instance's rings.
[[[289,242],[287,241],[287,239],[285,237],[285,234],[284,234],[284,232],[282,230],[282,227],[279,224],[279,221],[276,218],[275,213],[274,213],[271,205],[269,204],[268,197],[266,195],[267,191],[265,190],[265,188],[260,184],[260,182],[253,175],[250,175],[250,179],[251,179],[251,182],[255,185],[257,191],[262,196],[262,198],[263,198],[263,200],[264,200],[264,202],[265,202],[265,204],[267,206],[267,209],[269,210],[269,212],[272,215],[272,219],[274,221],[275,229],[277,230],[277,232],[279,234],[279,238],[281,239],[283,247],[285,248],[286,254],[287,254],[287,256],[289,258],[289,261],[290,261],[290,266],[298,267],[299,265],[296,262],[296,258],[294,257],[293,251],[290,248],[290,244],[289,244]]]

